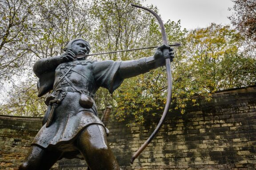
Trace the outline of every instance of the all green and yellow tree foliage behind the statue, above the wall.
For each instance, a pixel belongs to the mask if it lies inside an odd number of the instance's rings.
[[[22,4],[21,1],[17,2]],[[159,24],[154,16],[130,6],[130,3],[140,4],[141,0],[93,0],[91,4],[78,0],[26,2],[32,5],[27,13],[29,17],[22,19],[24,10],[13,19],[26,22],[20,22],[16,27],[9,29],[9,35],[18,33],[19,39],[8,44],[6,40],[11,40],[11,36],[1,37],[2,42],[6,42],[5,49],[9,49],[9,52],[4,52],[3,46],[0,55],[5,58],[13,56],[14,59],[9,62],[9,66],[12,66],[8,67],[9,75],[12,75],[14,68],[31,69],[31,64],[38,58],[61,54],[66,43],[74,38],[88,39],[92,53],[156,46],[162,43]],[[22,5],[23,9],[29,6]],[[3,8],[8,9],[7,6]],[[157,12],[157,8],[150,8]],[[0,9],[0,12],[3,16],[0,30],[4,30],[7,28],[7,22],[4,21],[10,16],[3,15],[4,10]],[[22,27],[22,31],[19,31],[18,27]],[[165,23],[165,28],[170,44],[183,44],[175,49],[175,59],[171,64],[173,109],[184,113],[188,102],[198,105],[193,96],[211,100],[211,93],[217,90],[255,84],[255,58],[243,51],[241,47],[244,39],[229,26],[211,24],[206,28],[187,31],[181,29],[180,21],[175,23],[169,20]],[[2,32],[4,31],[0,31],[0,35]],[[19,50],[14,50],[16,47]],[[106,54],[92,59],[133,60],[151,56],[153,53],[154,50],[138,50]],[[0,63],[1,68],[5,62]],[[31,73],[32,70],[29,71],[29,74]],[[12,92],[9,92],[10,97],[0,106],[1,114],[44,114],[43,99],[36,96],[36,79],[28,77],[30,79],[15,85]],[[132,118],[131,123],[144,123],[147,117],[161,114],[167,95],[166,79],[165,67],[126,79],[113,95],[106,89],[99,89],[96,93],[96,104],[98,109],[112,105],[113,119],[123,121],[129,117]]]

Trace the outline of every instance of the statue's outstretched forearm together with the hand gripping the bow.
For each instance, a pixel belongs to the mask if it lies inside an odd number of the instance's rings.
[[[163,50],[169,49],[170,59],[174,58],[173,49],[170,46],[162,45],[157,47],[155,54],[148,58],[140,58],[138,60],[123,61],[120,64],[119,75],[120,77],[129,78],[137,76],[141,73],[146,73],[152,69],[164,66],[165,60]]]

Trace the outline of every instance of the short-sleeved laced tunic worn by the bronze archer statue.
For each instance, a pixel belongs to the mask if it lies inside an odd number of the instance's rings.
[[[98,118],[94,100],[92,108],[83,108],[79,104],[80,94],[82,92],[93,98],[100,87],[113,93],[123,81],[118,73],[120,63],[120,61],[78,60],[57,66],[52,94],[55,95],[57,90],[61,90],[62,100],[56,107],[52,124],[47,128],[45,124],[43,125],[32,145],[43,148],[54,147],[69,152],[66,156],[63,155],[65,158],[82,158],[72,142],[89,125],[104,126],[104,124]],[[45,86],[42,81],[40,83]]]

